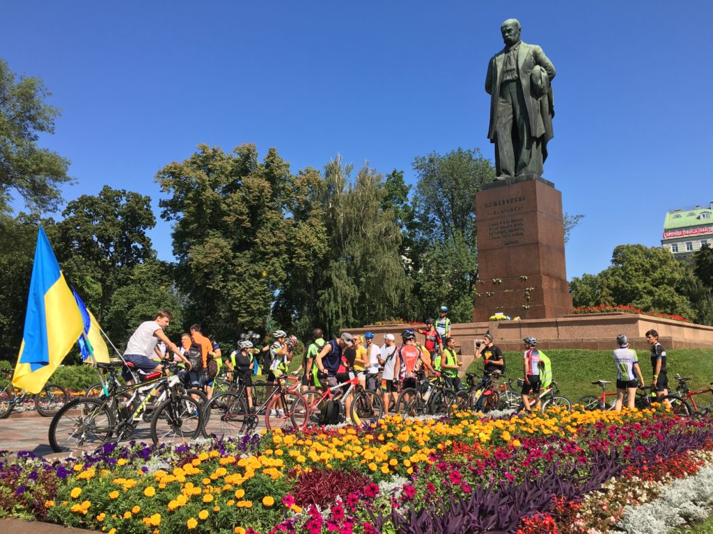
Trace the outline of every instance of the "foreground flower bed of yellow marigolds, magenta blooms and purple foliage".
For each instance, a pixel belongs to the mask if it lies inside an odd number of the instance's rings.
[[[556,528],[558,509],[612,477],[704,449],[712,437],[709,417],[661,407],[553,409],[391,417],[365,429],[176,449],[107,444],[65,461],[1,454],[0,515],[111,534],[514,533],[534,522]]]

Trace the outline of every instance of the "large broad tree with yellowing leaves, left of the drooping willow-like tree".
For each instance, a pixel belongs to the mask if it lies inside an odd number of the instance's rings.
[[[255,145],[231,154],[200,145],[184,162],[163,167],[156,180],[168,195],[159,203],[161,216],[175,222],[186,317],[219,340],[265,329],[293,263],[304,267],[306,258],[319,256],[323,229],[300,211],[312,176],[294,177],[272,148],[260,162]]]

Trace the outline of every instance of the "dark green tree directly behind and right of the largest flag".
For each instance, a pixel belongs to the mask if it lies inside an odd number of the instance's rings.
[[[146,235],[155,226],[150,198],[104,186],[67,204],[56,226],[56,253],[68,281],[103,318],[114,292],[131,269],[155,258]]]

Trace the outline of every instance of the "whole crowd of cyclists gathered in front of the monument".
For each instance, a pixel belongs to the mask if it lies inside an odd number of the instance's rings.
[[[448,308],[439,310],[438,319],[426,320],[425,328],[406,329],[401,333],[401,344],[397,344],[392,334],[384,336],[384,344],[379,346],[374,341],[374,333],[364,336],[342,333],[332,340],[325,340],[322,329],[315,328],[312,340],[304,343],[302,360],[292,375],[299,377],[302,392],[325,390],[344,384],[353,373],[362,389],[378,392],[383,398],[384,414],[396,404],[396,397],[403,389],[416,387],[417,377],[441,376],[456,392],[462,389],[459,372],[463,371],[463,360],[456,352],[456,340],[451,336],[451,322],[448,320]],[[185,367],[183,381],[186,387],[204,389],[210,399],[215,377],[225,367],[227,378],[231,382],[245,385],[247,408],[255,413],[252,395],[252,377],[263,375],[268,391],[274,389],[277,377],[287,375],[289,366],[295,357],[299,341],[294,335],[288,336],[284,330],[272,333],[274,341],[267,345],[260,344],[261,337],[249,332],[240,337],[240,342],[229,356],[223,357],[220,345],[201,332],[200,325],[193,325],[190,333],[181,337],[180,347],[163,332],[171,320],[170,312],[161,310],[153,321],[139,325],[130,337],[123,360],[130,362],[134,370],[151,373],[160,370],[160,361],[165,361],[167,353],[173,353],[173,360]],[[416,335],[424,336],[423,342],[416,340]],[[652,388],[659,397],[667,394],[666,352],[658,342],[658,333],[650,330],[646,334],[652,345],[652,369],[654,371]],[[523,386],[520,391],[523,408],[526,411],[538,409],[540,390],[552,382],[550,359],[542,350],[538,350],[535,337],[523,340]],[[615,409],[622,407],[624,399],[633,407],[635,390],[644,386],[641,368],[634,350],[629,347],[625,335],[617,337],[619,348],[613,356],[617,366],[617,401]],[[476,340],[476,360],[483,359],[483,371],[486,379],[497,379],[506,371],[503,352],[493,342],[493,336],[487,333],[482,340]],[[169,356],[170,358],[170,356]],[[125,380],[130,383],[131,372],[125,369]],[[350,399],[345,399],[349,413]]]

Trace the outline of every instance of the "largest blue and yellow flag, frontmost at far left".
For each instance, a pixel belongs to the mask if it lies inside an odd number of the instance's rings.
[[[82,314],[40,226],[25,330],[12,383],[39,393],[83,333]]]

